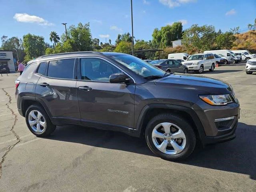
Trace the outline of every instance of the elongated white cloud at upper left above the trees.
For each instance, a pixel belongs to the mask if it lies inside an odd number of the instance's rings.
[[[18,22],[23,22],[23,23],[37,23],[39,25],[47,25],[47,26],[54,25],[53,23],[50,23],[41,17],[29,15],[26,13],[16,13],[13,18]]]

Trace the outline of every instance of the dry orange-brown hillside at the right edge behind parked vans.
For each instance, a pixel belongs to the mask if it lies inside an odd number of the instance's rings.
[[[251,33],[251,37],[250,37]],[[236,41],[231,50],[249,50],[252,53],[256,53],[256,31],[250,30],[245,33],[235,34]],[[250,48],[249,48],[249,37],[250,37]]]

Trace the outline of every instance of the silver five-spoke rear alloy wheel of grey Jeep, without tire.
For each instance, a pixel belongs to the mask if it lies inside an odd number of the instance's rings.
[[[28,114],[28,123],[36,133],[42,133],[46,127],[45,118],[38,110],[30,111]]]

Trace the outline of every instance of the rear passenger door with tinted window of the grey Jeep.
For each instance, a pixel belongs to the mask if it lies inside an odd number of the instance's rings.
[[[36,98],[46,105],[54,122],[80,123],[76,91],[76,59],[47,62],[36,85]]]

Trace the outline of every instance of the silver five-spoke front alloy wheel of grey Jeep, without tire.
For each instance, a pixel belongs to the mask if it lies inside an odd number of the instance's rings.
[[[164,154],[174,155],[182,152],[186,146],[186,136],[176,124],[163,122],[152,131],[152,141]]]

